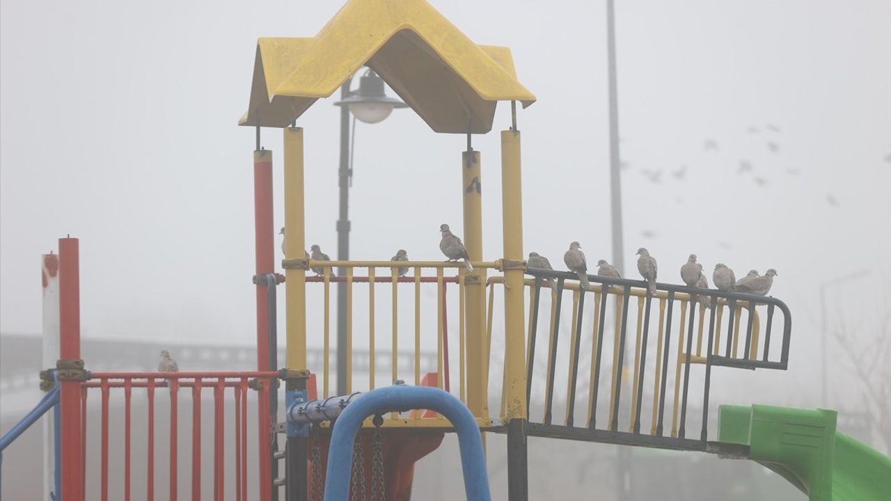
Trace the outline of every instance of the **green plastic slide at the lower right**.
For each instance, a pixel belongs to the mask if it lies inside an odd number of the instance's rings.
[[[891,458],[836,431],[836,411],[721,406],[718,440],[779,473],[811,501],[888,501]]]

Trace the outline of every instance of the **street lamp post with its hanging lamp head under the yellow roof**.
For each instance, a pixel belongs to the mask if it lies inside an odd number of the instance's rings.
[[[350,90],[353,78],[348,78],[340,86],[340,101],[334,103],[340,107],[340,167],[339,178],[339,217],[337,221],[337,259],[349,259],[349,182],[353,177],[353,165],[350,156],[349,115],[368,124],[376,124],[386,119],[394,108],[405,108],[407,104],[387,97],[384,92],[384,81],[377,73],[366,70],[359,79],[359,88]],[[355,131],[354,131],[355,134]],[[346,268],[338,268],[338,275],[345,276]],[[337,395],[347,393],[347,283],[337,286]]]

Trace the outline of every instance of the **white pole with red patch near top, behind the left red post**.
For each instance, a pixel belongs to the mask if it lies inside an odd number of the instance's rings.
[[[41,259],[44,286],[44,340],[42,367],[55,367],[59,359],[59,256],[44,254]],[[53,412],[44,415],[44,499],[50,499],[55,489],[55,462],[53,457]],[[56,498],[59,493],[55,494]]]

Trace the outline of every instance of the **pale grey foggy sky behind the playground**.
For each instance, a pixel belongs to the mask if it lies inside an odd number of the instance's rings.
[[[611,260],[604,5],[431,4],[474,42],[510,46],[519,81],[538,98],[518,117],[524,250],[562,267],[577,240],[589,262]],[[0,332],[40,333],[40,255],[71,234],[80,238],[85,338],[251,345],[254,130],[236,123],[257,37],[315,35],[339,6],[0,3]],[[691,252],[709,279],[716,262],[738,277],[776,268],[771,294],[794,321],[789,371],[723,373],[715,405],[867,407],[887,416],[891,2],[616,8],[625,275],[637,277],[641,246],[658,259],[660,282],[680,283]],[[331,256],[334,101],[298,119],[307,246]],[[509,125],[502,104],[494,132],[473,137],[486,259],[501,257],[496,131]],[[264,129],[262,144],[274,154],[278,227],[282,132]],[[388,259],[404,248],[412,259],[441,259],[438,226],[463,234],[464,148],[464,136],[434,134],[410,110],[357,124],[351,258]],[[822,284],[860,270],[868,274],[824,289],[823,367]],[[879,363],[865,371],[873,356]],[[151,366],[157,353],[145,357]],[[884,447],[879,438],[871,445],[887,453],[884,423]]]

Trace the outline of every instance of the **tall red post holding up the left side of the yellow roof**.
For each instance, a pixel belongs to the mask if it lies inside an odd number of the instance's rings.
[[[257,276],[274,272],[273,226],[273,152],[254,152],[254,245]],[[269,370],[269,322],[266,287],[257,280],[257,370]],[[260,501],[272,497],[271,445],[269,428],[272,424],[269,403],[258,398],[257,433]]]

